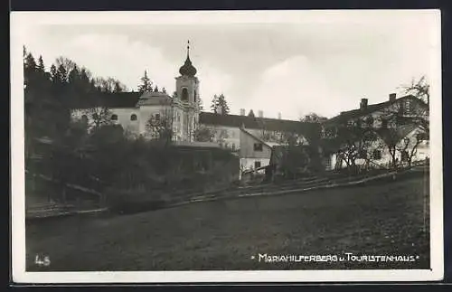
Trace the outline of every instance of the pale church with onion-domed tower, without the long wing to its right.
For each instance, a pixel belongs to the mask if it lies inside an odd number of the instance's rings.
[[[101,116],[112,124],[121,125],[130,136],[152,137],[158,128],[171,128],[174,141],[193,141],[199,124],[199,80],[195,76],[187,46],[187,58],[175,78],[174,97],[165,91],[100,93],[97,106],[74,108],[73,119],[95,126]]]

